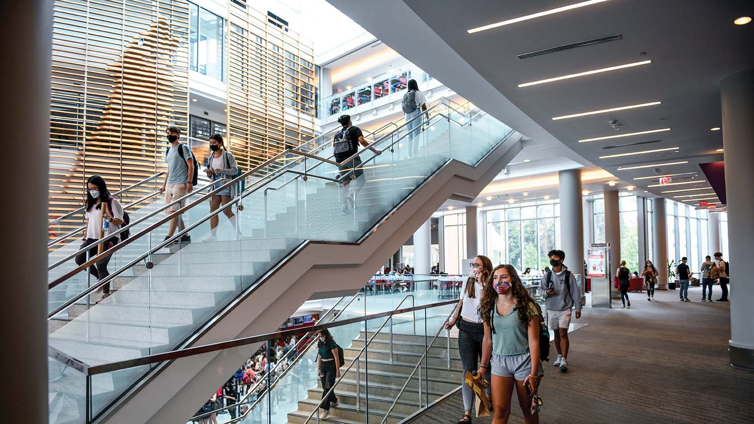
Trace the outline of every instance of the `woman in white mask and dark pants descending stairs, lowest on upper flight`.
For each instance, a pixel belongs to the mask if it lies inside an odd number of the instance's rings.
[[[84,238],[81,242],[79,250],[90,246],[93,243],[97,243],[97,240],[109,236],[111,233],[121,229],[123,225],[123,206],[121,202],[112,197],[107,190],[107,184],[100,175],[92,175],[87,179],[87,194],[86,194],[86,218],[87,228],[84,230]],[[103,212],[105,212],[103,214]],[[118,243],[118,237],[115,236],[109,239],[106,243],[103,243],[102,252],[110,249],[112,246]],[[98,246],[93,246],[87,252],[79,253],[75,257],[76,264],[82,265],[87,262],[87,253],[89,258],[94,258],[99,252]],[[89,267],[89,273],[100,281],[110,273],[107,270],[107,264],[110,262],[111,255],[107,255],[105,258],[97,261]],[[97,291],[100,291],[99,289]],[[103,296],[100,300],[104,300],[110,295],[110,283],[106,283],[102,287]]]

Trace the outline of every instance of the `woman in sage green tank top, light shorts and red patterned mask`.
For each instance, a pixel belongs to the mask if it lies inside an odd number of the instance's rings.
[[[484,321],[482,366],[492,374],[493,424],[505,424],[510,416],[510,398],[516,388],[524,422],[538,424],[539,414],[530,409],[544,375],[539,358],[539,310],[521,283],[513,265],[492,270],[492,284],[484,286],[479,315]]]

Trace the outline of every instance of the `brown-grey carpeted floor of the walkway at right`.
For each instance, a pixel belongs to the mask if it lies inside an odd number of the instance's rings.
[[[728,363],[729,304],[701,302],[698,287],[686,303],[678,291],[656,291],[653,302],[629,296],[630,309],[620,300],[618,309],[584,309],[578,322],[589,325],[570,334],[568,373],[544,363],[540,422],[754,423],[754,373]],[[513,401],[509,422],[523,423]],[[462,413],[458,392],[414,423],[455,423]]]

